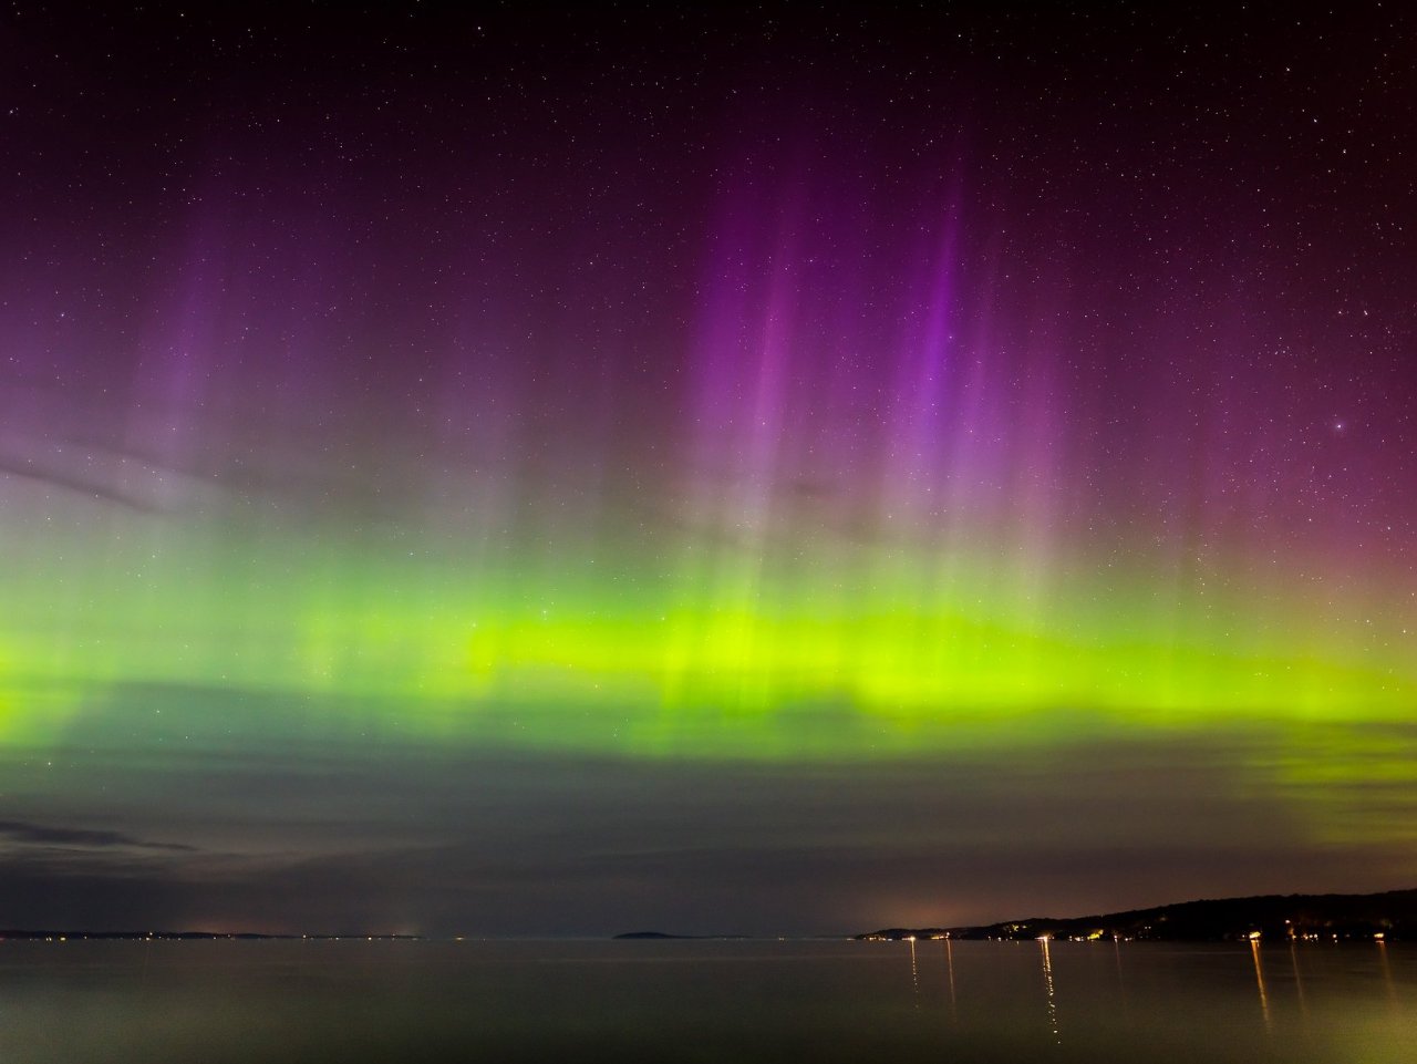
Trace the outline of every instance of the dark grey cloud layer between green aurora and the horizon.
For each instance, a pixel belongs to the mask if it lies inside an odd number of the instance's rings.
[[[160,759],[88,734],[98,752],[0,765],[13,808],[51,812],[0,825],[10,922],[839,932],[1403,876],[1390,847],[1315,837],[1297,817],[1285,779],[1254,768],[1280,759],[1277,732],[864,765],[264,734]],[[69,785],[41,791],[57,771]],[[99,800],[103,827],[69,826]]]

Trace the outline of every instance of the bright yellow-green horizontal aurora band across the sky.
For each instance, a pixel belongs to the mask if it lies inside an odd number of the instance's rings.
[[[1176,595],[1066,565],[1023,582],[982,547],[854,565],[806,547],[785,575],[726,550],[657,581],[604,554],[555,579],[319,543],[58,554],[0,628],[10,744],[54,742],[125,687],[309,697],[427,738],[768,759],[1064,741],[1078,714],[1213,731],[1400,721],[1417,703],[1413,662],[1359,639],[1370,601],[1335,635],[1278,582]]]

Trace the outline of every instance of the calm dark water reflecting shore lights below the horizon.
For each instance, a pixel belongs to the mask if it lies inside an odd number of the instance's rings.
[[[0,1061],[1413,1060],[1417,946],[0,942]]]

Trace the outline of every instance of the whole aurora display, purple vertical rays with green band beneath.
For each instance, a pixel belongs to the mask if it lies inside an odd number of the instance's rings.
[[[952,207],[934,228],[907,213],[924,235],[904,242],[934,251],[905,254],[871,251],[871,222],[808,177],[726,198],[694,322],[653,351],[683,360],[653,398],[666,425],[642,422],[635,388],[597,388],[625,367],[574,337],[527,380],[469,368],[442,337],[383,394],[339,353],[364,346],[354,326],[283,343],[235,329],[310,310],[198,241],[190,281],[147,307],[173,324],[111,353],[129,367],[112,435],[78,428],[68,391],[13,390],[60,417],[13,434],[7,524],[27,565],[0,633],[10,717],[27,717],[26,684],[376,696],[439,720],[588,700],[592,745],[614,703],[666,734],[697,714],[703,748],[626,745],[694,757],[751,752],[761,721],[813,706],[907,730],[1413,706],[1413,579],[1391,537],[1356,541],[1410,503],[1355,500],[1393,476],[1357,453],[1346,483],[1315,487],[1348,441],[1277,452],[1274,426],[1308,402],[1271,387],[1260,336],[1214,336],[1230,350],[1204,373],[1230,383],[1183,392],[1146,377],[1200,373],[1195,340],[1155,330],[1083,361],[1066,286],[1017,306],[968,261]],[[315,424],[273,412],[293,398],[262,361],[319,358],[341,330],[324,387],[298,390]],[[1166,368],[1138,381],[1131,358]],[[459,374],[465,404],[439,415],[421,385]]]

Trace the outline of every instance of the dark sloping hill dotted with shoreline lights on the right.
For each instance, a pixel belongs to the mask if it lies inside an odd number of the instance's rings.
[[[962,928],[883,928],[859,939],[907,938],[1122,938],[1216,942],[1253,938],[1301,941],[1417,941],[1417,890],[1382,894],[1265,894],[1182,901],[1094,917],[1029,917]]]

